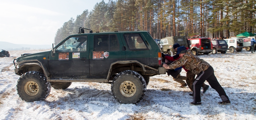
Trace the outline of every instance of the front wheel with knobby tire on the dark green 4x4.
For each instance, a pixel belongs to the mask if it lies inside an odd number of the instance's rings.
[[[26,102],[44,101],[50,94],[51,83],[41,72],[29,71],[20,76],[16,90],[20,99]]]

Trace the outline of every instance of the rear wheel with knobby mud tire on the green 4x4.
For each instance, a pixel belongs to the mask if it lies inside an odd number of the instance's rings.
[[[118,73],[111,83],[111,92],[118,103],[137,104],[147,91],[144,78],[135,71],[125,70]]]

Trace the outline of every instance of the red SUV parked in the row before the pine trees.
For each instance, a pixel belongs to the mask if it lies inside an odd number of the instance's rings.
[[[198,55],[198,53],[208,55],[212,52],[212,42],[209,38],[192,36],[188,40],[190,40],[190,49],[194,55]]]

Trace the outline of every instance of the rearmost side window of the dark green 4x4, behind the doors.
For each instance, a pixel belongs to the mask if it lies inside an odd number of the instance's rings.
[[[128,48],[131,50],[148,50],[145,40],[142,39],[140,34],[124,34],[125,41],[128,44]]]

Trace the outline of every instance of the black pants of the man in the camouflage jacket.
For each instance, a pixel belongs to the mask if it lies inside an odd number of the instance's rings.
[[[226,95],[225,90],[221,87],[220,83],[214,75],[214,70],[212,66],[209,66],[207,70],[204,70],[197,75],[196,80],[193,83],[194,103],[201,102],[200,90],[205,80],[210,84],[213,89],[215,89],[219,93],[222,101],[228,100],[228,96]]]

